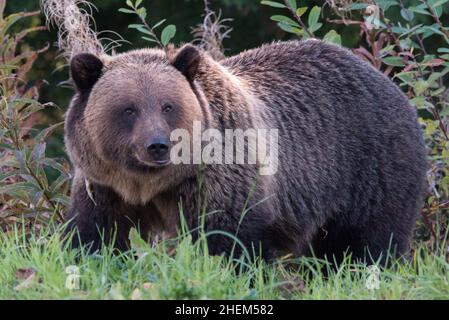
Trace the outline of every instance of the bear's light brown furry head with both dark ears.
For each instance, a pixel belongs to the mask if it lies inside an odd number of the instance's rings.
[[[192,45],[172,50],[72,58],[76,95],[65,139],[75,168],[97,182],[115,171],[142,176],[170,170],[171,132],[192,132],[194,121],[204,120],[194,86],[203,53]]]

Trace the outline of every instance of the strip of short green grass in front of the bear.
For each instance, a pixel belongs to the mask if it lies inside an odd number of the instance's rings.
[[[367,289],[362,264],[344,263],[326,277],[313,258],[230,262],[189,236],[174,250],[167,241],[151,248],[133,233],[132,248],[87,255],[62,244],[60,231],[0,234],[0,299],[449,299],[447,243],[418,246],[410,262],[381,269],[377,290]],[[79,290],[66,288],[69,266],[79,269]]]

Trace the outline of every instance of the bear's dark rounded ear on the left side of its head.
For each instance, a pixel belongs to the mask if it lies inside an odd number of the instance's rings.
[[[103,62],[90,53],[80,53],[70,61],[70,75],[76,88],[85,92],[93,87],[101,76]]]

